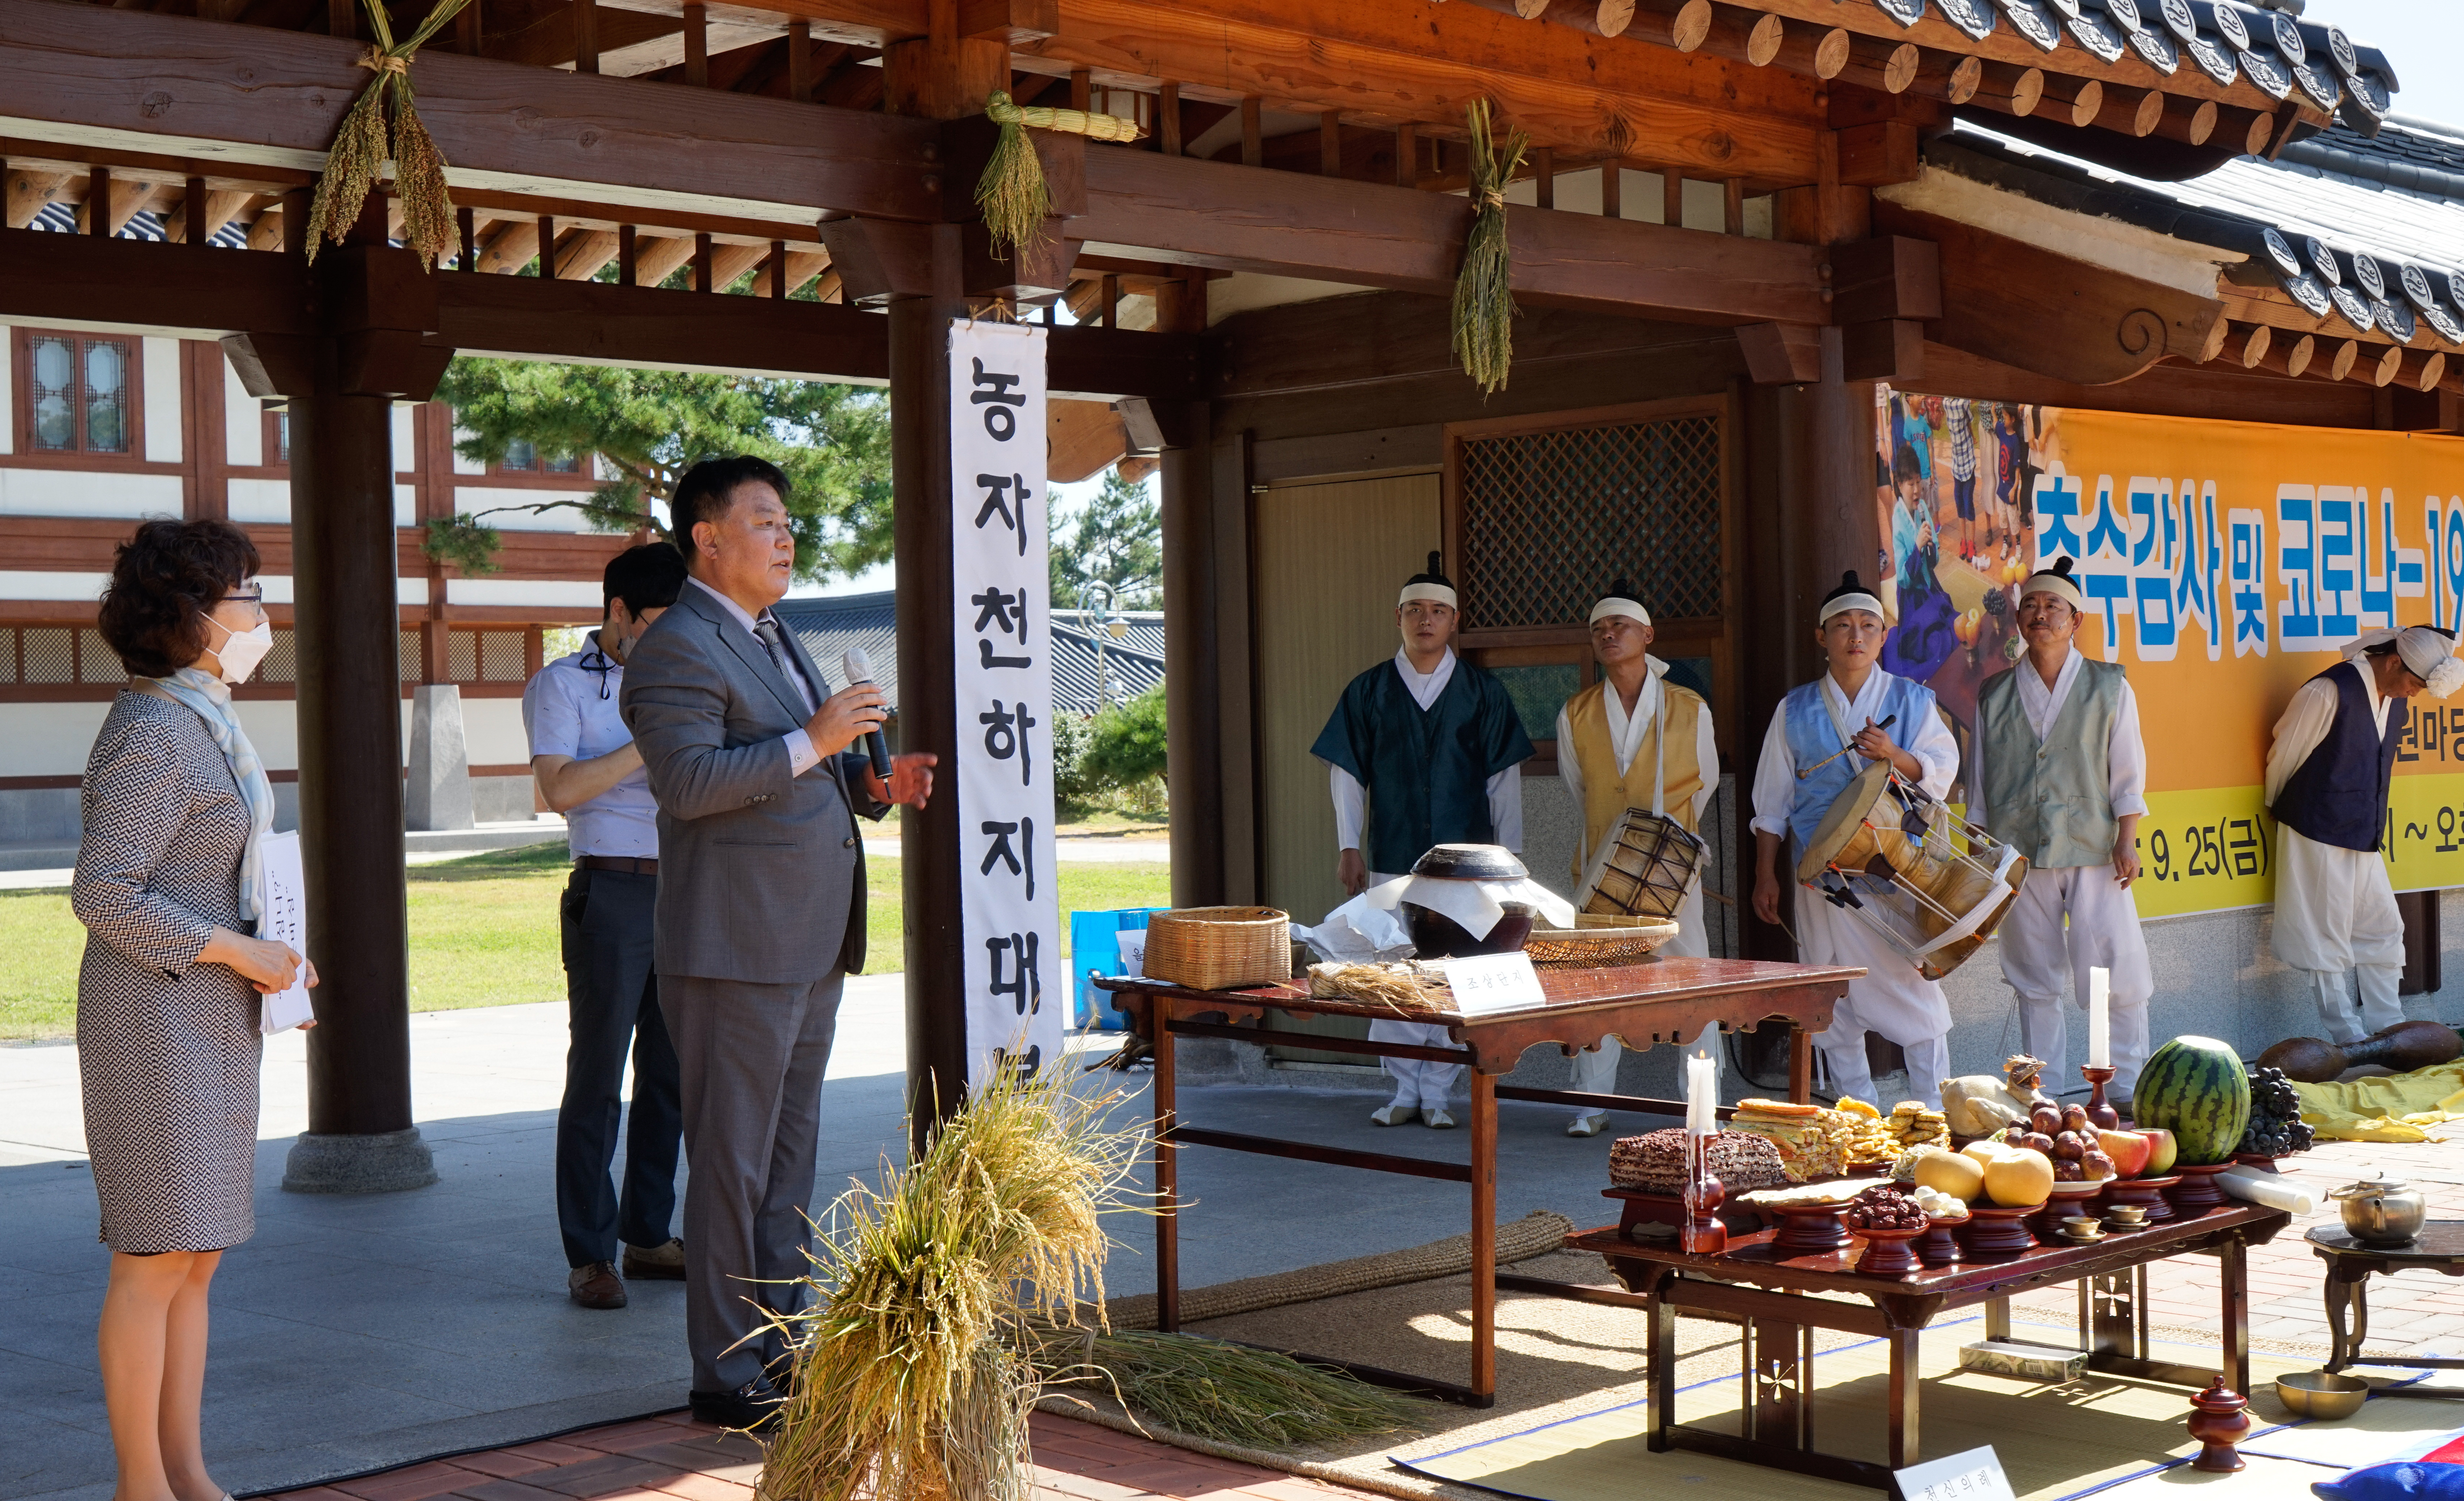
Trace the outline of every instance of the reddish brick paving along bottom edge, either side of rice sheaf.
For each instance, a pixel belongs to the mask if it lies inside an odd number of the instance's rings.
[[[1368,1501],[1254,1464],[1037,1412],[1035,1501]],[[429,1459],[271,1501],[754,1501],[761,1449],[683,1412]]]

